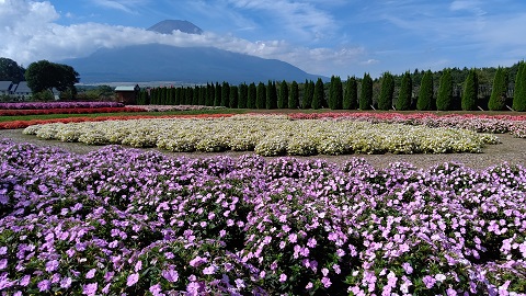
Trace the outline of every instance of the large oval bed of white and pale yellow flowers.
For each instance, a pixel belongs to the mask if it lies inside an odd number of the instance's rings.
[[[261,156],[481,152],[498,138],[467,129],[287,115],[151,118],[34,125],[24,134],[89,145],[122,144],[176,152],[254,150]]]

